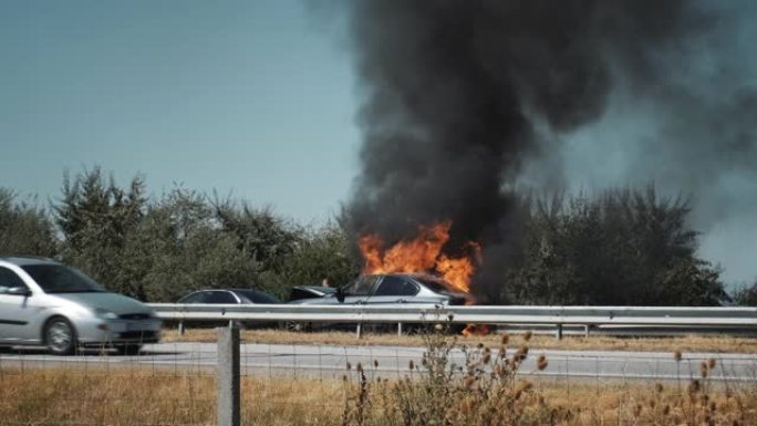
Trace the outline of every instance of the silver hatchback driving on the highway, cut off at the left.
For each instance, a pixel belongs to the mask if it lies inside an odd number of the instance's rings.
[[[73,268],[0,257],[0,346],[45,345],[58,355],[80,345],[108,346],[134,354],[159,334],[160,320],[151,308]]]

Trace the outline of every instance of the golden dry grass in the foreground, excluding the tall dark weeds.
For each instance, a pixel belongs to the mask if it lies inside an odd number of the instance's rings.
[[[480,361],[480,359],[479,359]],[[370,375],[372,366],[365,366]],[[418,398],[418,388],[393,389],[398,382],[365,381],[363,417],[353,415],[360,403],[356,366],[346,382],[299,378],[242,380],[242,424],[319,426],[339,424],[394,425],[385,404],[400,407],[397,396]],[[423,380],[417,381],[423,384]],[[564,382],[512,382],[509,396],[519,395],[512,408],[522,416],[497,425],[756,425],[757,389],[728,389],[701,381],[696,392],[684,384],[590,385]],[[486,394],[478,384],[439,382],[463,419],[480,419],[477,403]],[[456,387],[457,386],[457,387]],[[460,387],[465,386],[465,387]],[[753,385],[754,386],[754,385]],[[435,392],[444,392],[436,389]],[[507,394],[506,394],[507,395]],[[705,397],[706,395],[706,397]],[[349,398],[345,398],[348,396]],[[507,399],[498,399],[500,403]],[[407,402],[407,401],[406,401]],[[423,404],[426,401],[419,399]],[[211,374],[170,374],[148,368],[0,370],[2,425],[214,425],[215,378]],[[425,405],[419,405],[423,407]],[[481,407],[486,406],[480,404]],[[348,408],[345,411],[345,407]],[[383,412],[380,412],[383,409]],[[499,414],[504,414],[504,409]],[[541,416],[541,417],[539,417]],[[711,423],[707,423],[707,419]],[[508,420],[510,422],[510,420]],[[416,424],[416,423],[413,423]],[[450,425],[483,424],[454,422]],[[494,423],[492,423],[494,424]]]

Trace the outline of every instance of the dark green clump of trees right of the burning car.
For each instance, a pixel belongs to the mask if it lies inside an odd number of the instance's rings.
[[[523,220],[523,257],[500,299],[539,304],[713,305],[719,273],[696,257],[688,201],[609,190],[536,200]]]

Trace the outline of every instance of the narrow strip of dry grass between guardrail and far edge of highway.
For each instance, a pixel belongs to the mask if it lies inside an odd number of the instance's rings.
[[[248,343],[282,343],[282,344],[333,344],[333,345],[402,345],[423,346],[421,336],[397,336],[396,334],[364,334],[357,339],[355,333],[318,332],[301,333],[281,330],[243,330],[241,337]],[[165,330],[164,342],[215,342],[216,331],[212,329],[189,329],[185,335],[176,330]],[[497,345],[499,335],[459,337],[460,342],[476,345]],[[605,351],[651,351],[651,352],[733,352],[757,353],[757,339],[714,336],[681,336],[681,337],[606,337],[606,336],[566,336],[558,341],[553,336],[535,335],[531,346],[537,349],[556,350],[605,350]]]

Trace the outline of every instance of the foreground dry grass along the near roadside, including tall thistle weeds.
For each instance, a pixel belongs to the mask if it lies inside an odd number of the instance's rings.
[[[754,383],[711,381],[709,360],[695,377],[665,383],[585,382],[522,376],[549,359],[528,334],[469,344],[423,337],[409,373],[382,377],[377,362],[348,364],[342,378],[242,378],[243,425],[718,425],[757,424]],[[463,347],[463,365],[449,352]],[[680,352],[671,357],[680,360]],[[522,373],[522,372],[521,372]],[[87,366],[0,367],[3,425],[209,425],[216,418],[212,370]]]

